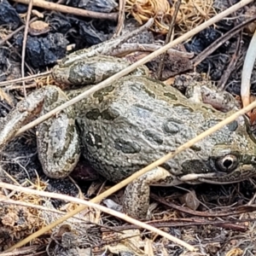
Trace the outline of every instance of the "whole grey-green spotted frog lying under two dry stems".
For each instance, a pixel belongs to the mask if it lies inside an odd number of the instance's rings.
[[[32,91],[0,120],[2,150],[36,114],[49,112],[130,65],[112,56],[75,56],[56,65],[53,77],[83,88],[64,92],[47,85]],[[38,158],[47,176],[64,178],[83,154],[96,172],[119,183],[229,114],[151,79],[141,67],[38,125]],[[125,189],[123,210],[133,218],[147,218],[151,185],[236,183],[255,176],[255,144],[247,128],[247,118],[241,116],[138,177]]]

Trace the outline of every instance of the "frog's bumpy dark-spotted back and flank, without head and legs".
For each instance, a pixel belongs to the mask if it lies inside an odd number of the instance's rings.
[[[80,103],[84,104],[79,107],[83,113],[79,113],[78,123],[85,158],[97,172],[117,182],[214,125],[212,119],[218,122],[222,117],[212,108],[187,102],[179,91],[152,79],[119,79],[114,87]],[[197,143],[165,167],[175,175],[182,174],[183,162],[188,158],[207,160],[216,140],[218,137]]]

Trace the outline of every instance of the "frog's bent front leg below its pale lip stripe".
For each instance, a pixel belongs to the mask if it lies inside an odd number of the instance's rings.
[[[123,211],[132,218],[148,219],[149,185],[173,186],[181,183],[177,177],[162,167],[157,167],[138,177],[125,189]]]

